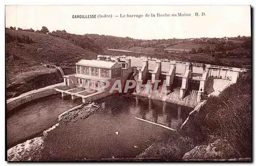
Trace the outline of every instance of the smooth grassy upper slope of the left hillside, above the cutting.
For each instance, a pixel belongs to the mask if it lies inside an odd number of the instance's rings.
[[[6,51],[10,55],[21,54],[23,58],[36,61],[52,61],[52,62],[76,62],[78,58],[95,58],[96,54],[88,50],[84,50],[75,45],[71,41],[50,36],[47,34],[6,30],[6,33],[15,36],[27,35],[31,37],[34,43],[21,44],[15,46],[14,43],[6,44]],[[42,49],[37,51],[37,49]]]

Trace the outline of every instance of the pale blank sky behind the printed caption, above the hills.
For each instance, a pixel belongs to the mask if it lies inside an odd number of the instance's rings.
[[[196,16],[195,13],[205,13]],[[145,14],[156,17],[146,17]],[[157,17],[186,13],[191,16]],[[72,18],[73,15],[112,18]],[[120,14],[126,17],[120,17]],[[129,15],[143,15],[141,18]],[[118,15],[119,17],[115,17]],[[250,6],[6,6],[6,27],[136,39],[251,36]]]

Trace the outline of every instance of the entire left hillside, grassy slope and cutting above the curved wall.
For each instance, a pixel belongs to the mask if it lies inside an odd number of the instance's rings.
[[[56,68],[42,64],[75,63],[96,57],[97,54],[59,37],[6,29],[7,93],[19,94],[62,81]]]

